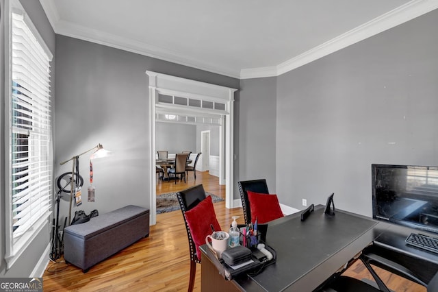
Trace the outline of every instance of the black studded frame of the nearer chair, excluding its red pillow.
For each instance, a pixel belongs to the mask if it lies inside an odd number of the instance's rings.
[[[177,193],[179,206],[181,206],[181,212],[183,212],[185,229],[187,230],[187,236],[189,240],[189,250],[190,250],[190,280],[188,291],[193,291],[194,278],[196,276],[196,263],[201,263],[201,258],[196,255],[196,245],[193,241],[192,234],[190,233],[190,228],[188,222],[185,220],[185,212],[191,210],[207,197],[202,184],[197,186],[192,186],[184,191],[179,191]]]

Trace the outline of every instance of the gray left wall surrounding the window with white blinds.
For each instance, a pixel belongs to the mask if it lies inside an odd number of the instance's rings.
[[[4,277],[28,277],[28,276],[40,276],[38,275],[31,275],[31,271],[34,270],[34,268],[37,266],[38,260],[40,260],[40,257],[44,253],[45,248],[49,245],[49,239],[50,239],[50,226],[49,221],[47,221],[47,225],[42,228],[42,231],[36,235],[36,238],[34,241],[31,242],[27,250],[23,252],[20,258],[14,263],[11,269],[6,270],[6,263],[5,263],[5,221],[4,221],[4,214],[5,214],[5,199],[8,197],[8,195],[5,193],[5,149],[4,149],[4,139],[5,131],[8,130],[5,128],[5,123],[3,123],[5,116],[4,116],[4,108],[5,108],[5,92],[3,90],[4,88],[4,53],[3,48],[5,46],[4,43],[4,23],[3,23],[3,17],[4,17],[4,0],[0,0],[0,46],[1,46],[1,53],[0,53],[0,65],[1,65],[1,71],[0,71],[0,97],[1,97],[1,106],[0,106],[0,119],[1,119],[1,128],[0,128],[0,135],[1,135],[1,146],[0,146],[0,180],[1,180],[1,197],[0,197],[0,210],[1,210],[1,216],[0,216],[0,226],[1,226],[1,234],[0,234],[0,250],[1,250],[1,262],[0,262],[0,278]],[[46,15],[44,14],[44,10],[42,10],[42,7],[40,5],[39,1],[21,1],[21,4],[23,5],[23,8],[25,8],[27,14],[29,15],[30,19],[38,29],[38,32],[44,39],[44,42],[46,42],[46,45],[49,47],[53,55],[55,55],[55,34],[53,32],[53,29],[51,28],[51,25],[49,21],[47,20]],[[53,61],[51,63],[51,84],[53,86],[55,82],[55,68],[54,68],[54,62],[55,57],[53,58]],[[54,97],[53,94],[51,96],[52,99],[52,106],[54,104]],[[48,255],[47,255],[48,256]],[[48,258],[47,258],[48,259]],[[42,271],[41,271],[42,273]]]

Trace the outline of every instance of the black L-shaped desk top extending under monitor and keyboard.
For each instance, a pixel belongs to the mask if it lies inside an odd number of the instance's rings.
[[[300,221],[298,212],[268,223],[266,243],[276,251],[276,263],[257,276],[233,280],[235,287],[243,291],[313,291],[370,243],[373,252],[409,267],[424,282],[438,271],[438,254],[404,241],[410,232],[437,234],[341,210],[335,216],[324,215],[323,210],[324,206],[315,206],[305,221]]]

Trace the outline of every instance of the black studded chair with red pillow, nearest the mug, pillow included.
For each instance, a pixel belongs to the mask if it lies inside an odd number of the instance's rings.
[[[220,230],[211,197],[205,193],[202,184],[177,192],[181,212],[183,213],[185,230],[187,231],[190,252],[190,280],[188,291],[193,291],[196,276],[196,263],[201,263],[199,245],[205,243],[205,237],[211,234],[211,227]]]

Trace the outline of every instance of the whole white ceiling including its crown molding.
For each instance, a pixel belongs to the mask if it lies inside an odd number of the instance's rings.
[[[276,76],[438,8],[429,0],[40,0],[55,33],[237,78]]]

